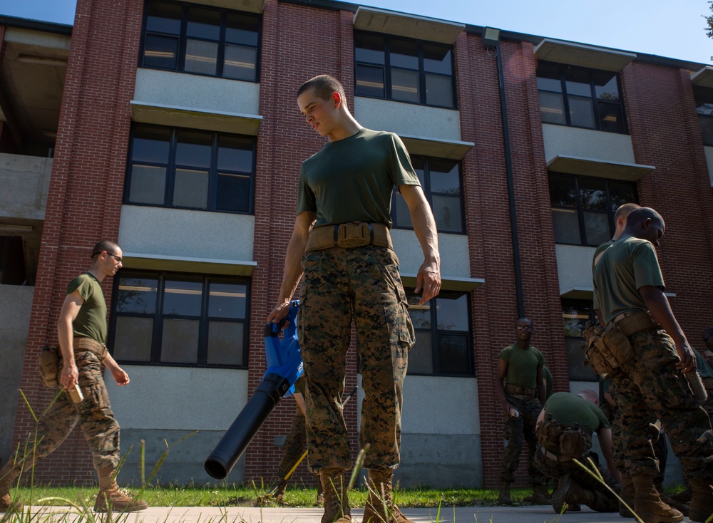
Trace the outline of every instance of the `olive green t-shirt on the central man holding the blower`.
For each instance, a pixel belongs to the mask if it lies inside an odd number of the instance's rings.
[[[317,214],[315,227],[347,222],[391,227],[391,192],[399,185],[421,185],[401,138],[361,128],[302,162],[297,214]]]

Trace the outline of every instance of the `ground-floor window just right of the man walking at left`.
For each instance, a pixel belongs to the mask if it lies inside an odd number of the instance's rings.
[[[227,276],[121,269],[114,278],[112,354],[169,366],[247,366],[250,285]]]

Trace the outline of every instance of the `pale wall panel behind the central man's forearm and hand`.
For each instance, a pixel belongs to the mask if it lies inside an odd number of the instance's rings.
[[[391,241],[399,257],[399,269],[404,274],[416,274],[424,263],[424,252],[416,233],[408,229],[391,229]],[[471,277],[468,257],[468,237],[465,234],[438,234],[441,252],[441,276]],[[447,255],[446,255],[447,253]]]

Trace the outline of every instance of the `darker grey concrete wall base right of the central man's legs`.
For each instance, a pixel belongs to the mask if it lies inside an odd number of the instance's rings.
[[[401,465],[394,471],[394,481],[409,488],[482,488],[480,435],[401,435]]]

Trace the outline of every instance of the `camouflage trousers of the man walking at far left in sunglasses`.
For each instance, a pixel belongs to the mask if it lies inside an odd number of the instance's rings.
[[[97,469],[119,463],[119,424],[109,404],[109,396],[101,372],[101,363],[90,351],[75,353],[79,371],[79,386],[84,395],[81,403],[72,403],[63,390],[45,415],[39,420],[34,448],[35,461],[53,452],[62,444],[77,423],[81,424],[84,437],[91,449],[94,467]],[[34,435],[28,441],[23,469],[32,466]]]

